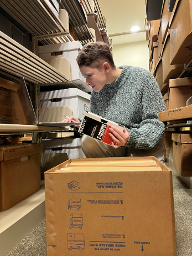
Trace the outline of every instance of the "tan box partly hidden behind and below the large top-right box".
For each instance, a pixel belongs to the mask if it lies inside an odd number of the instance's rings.
[[[162,49],[163,62],[163,83],[169,83],[169,79],[178,78],[180,73],[184,70],[184,64],[171,65],[170,64],[170,35],[165,39]]]

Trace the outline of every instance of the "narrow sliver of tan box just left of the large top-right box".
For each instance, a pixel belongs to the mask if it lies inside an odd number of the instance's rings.
[[[166,34],[168,32],[169,27],[169,19],[171,16],[171,12],[168,10],[168,0],[163,1],[162,12],[161,12],[161,20],[162,20],[162,43],[165,41]]]

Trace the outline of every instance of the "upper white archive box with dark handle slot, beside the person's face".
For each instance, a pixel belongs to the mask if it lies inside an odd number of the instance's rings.
[[[71,66],[71,80],[85,91],[91,92],[91,87],[86,86],[86,79],[82,76],[76,62],[76,58],[81,49],[82,45],[79,41],[39,46],[39,57],[44,61],[54,58],[69,59]],[[55,56],[55,53],[58,54]]]

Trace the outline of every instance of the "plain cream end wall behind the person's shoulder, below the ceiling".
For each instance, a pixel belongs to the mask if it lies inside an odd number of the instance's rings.
[[[149,70],[148,41],[113,45],[113,59],[116,67],[122,65]]]

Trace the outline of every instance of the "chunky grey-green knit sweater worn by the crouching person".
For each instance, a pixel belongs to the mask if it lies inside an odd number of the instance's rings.
[[[153,148],[165,129],[158,120],[158,113],[166,110],[158,84],[146,69],[120,68],[115,82],[105,84],[100,92],[92,90],[90,112],[122,125],[130,123],[125,147]]]

